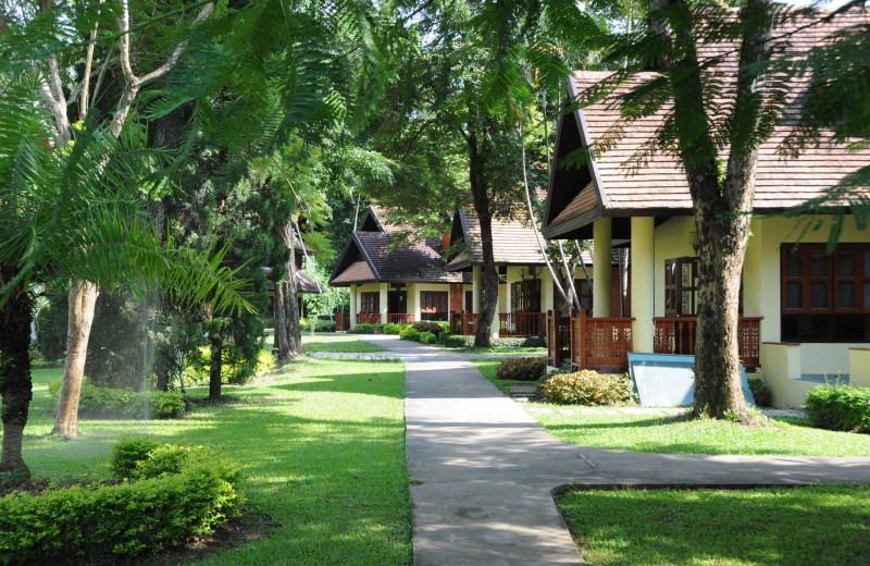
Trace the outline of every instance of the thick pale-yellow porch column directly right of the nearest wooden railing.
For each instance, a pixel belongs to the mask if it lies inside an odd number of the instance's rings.
[[[632,341],[635,352],[651,354],[654,349],[656,285],[655,285],[655,219],[632,218]]]

